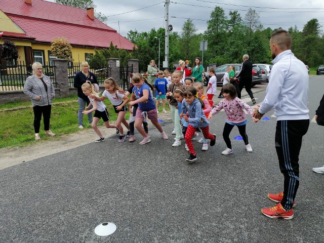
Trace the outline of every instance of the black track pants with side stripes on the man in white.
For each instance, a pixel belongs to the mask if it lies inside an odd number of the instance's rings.
[[[278,120],[275,131],[275,148],[279,167],[284,174],[284,198],[281,205],[289,211],[299,186],[299,152],[303,136],[307,133],[309,119]]]

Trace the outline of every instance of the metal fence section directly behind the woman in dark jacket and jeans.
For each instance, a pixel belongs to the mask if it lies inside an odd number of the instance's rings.
[[[75,74],[81,70],[80,65],[81,63],[74,62],[67,67],[67,75],[69,78],[70,87],[73,87]],[[109,67],[108,64],[104,66],[90,66],[89,71],[96,75],[99,86],[103,86],[104,80],[106,80],[110,76],[111,67]]]

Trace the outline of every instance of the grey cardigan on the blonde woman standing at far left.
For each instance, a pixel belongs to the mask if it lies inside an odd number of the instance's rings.
[[[24,85],[24,93],[25,95],[30,97],[32,106],[44,106],[52,104],[52,98],[55,95],[53,84],[50,77],[48,76],[44,75],[43,80],[47,85],[47,93],[41,79],[39,79],[35,75],[31,75],[26,79]],[[36,97],[38,95],[42,96],[40,100],[36,100]]]

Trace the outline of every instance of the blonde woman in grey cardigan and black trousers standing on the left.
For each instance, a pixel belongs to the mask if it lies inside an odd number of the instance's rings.
[[[52,98],[55,95],[55,91],[51,79],[43,75],[43,65],[39,62],[34,62],[31,67],[33,75],[27,77],[24,93],[31,100],[34,111],[35,140],[39,140],[41,139],[39,137],[39,127],[41,127],[42,114],[45,134],[55,136],[55,133],[50,131]]]

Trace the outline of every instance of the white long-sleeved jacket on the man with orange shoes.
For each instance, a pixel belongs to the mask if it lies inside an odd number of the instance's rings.
[[[266,96],[259,111],[266,113],[273,108],[277,120],[309,119],[309,76],[305,64],[291,50],[281,52],[272,63]]]

